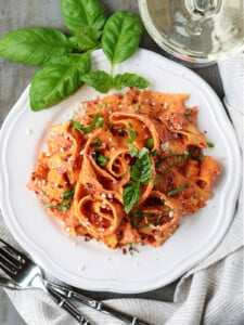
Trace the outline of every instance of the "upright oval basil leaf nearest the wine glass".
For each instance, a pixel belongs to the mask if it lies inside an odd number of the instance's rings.
[[[140,18],[131,12],[118,11],[107,20],[102,48],[112,66],[127,60],[137,51],[142,28]]]

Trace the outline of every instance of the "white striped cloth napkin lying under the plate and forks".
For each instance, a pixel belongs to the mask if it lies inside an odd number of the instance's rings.
[[[236,130],[240,146],[244,142],[244,53],[219,63],[226,92],[224,103]],[[113,299],[106,303],[160,325],[243,325],[244,324],[244,226],[243,190],[233,222],[217,249],[179,281],[172,302],[145,299]],[[0,236],[14,243],[0,218]],[[29,325],[75,325],[40,290],[8,291],[10,299]],[[80,310],[98,325],[123,323],[84,306]]]

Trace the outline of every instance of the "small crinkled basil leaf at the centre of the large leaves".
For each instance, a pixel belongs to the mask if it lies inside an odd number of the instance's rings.
[[[98,39],[101,32],[98,32],[93,27],[84,26],[77,28],[75,31],[78,48],[82,51],[88,51],[90,49],[99,48]]]

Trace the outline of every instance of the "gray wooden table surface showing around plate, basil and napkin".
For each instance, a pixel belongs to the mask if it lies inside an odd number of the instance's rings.
[[[140,0],[139,0],[140,1]],[[129,10],[138,13],[137,0],[103,0],[108,13],[117,10]],[[29,26],[55,27],[66,34],[57,0],[1,0],[0,1],[0,38],[11,29]],[[149,37],[146,31],[142,37],[141,47],[150,49],[167,56]],[[26,86],[29,83],[36,67],[8,62],[0,58],[0,126],[8,113],[17,101]],[[222,98],[222,84],[216,65],[194,69],[201,75]],[[140,295],[118,295],[112,292],[88,292],[85,294],[95,299],[107,299],[117,297],[150,298],[156,300],[171,301],[177,281],[168,286]],[[24,324],[0,290],[0,324]],[[30,324],[31,325],[31,324]]]

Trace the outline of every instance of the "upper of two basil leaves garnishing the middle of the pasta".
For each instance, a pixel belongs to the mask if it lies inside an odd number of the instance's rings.
[[[149,184],[153,174],[149,153],[141,156],[131,169],[130,177],[142,184]]]

